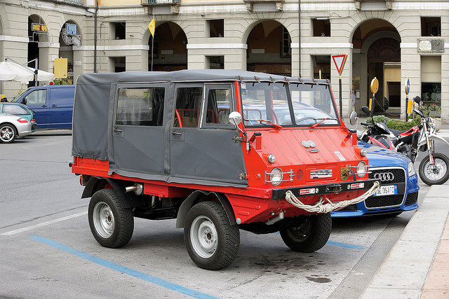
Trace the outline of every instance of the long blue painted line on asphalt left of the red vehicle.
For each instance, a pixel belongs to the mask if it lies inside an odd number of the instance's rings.
[[[145,274],[143,272],[139,272],[139,271],[130,269],[128,267],[123,267],[122,265],[118,265],[116,263],[109,262],[109,260],[104,260],[102,258],[98,258],[97,256],[93,256],[89,253],[79,251],[78,249],[70,248],[69,246],[60,244],[58,242],[54,242],[51,239],[46,239],[46,238],[39,237],[39,236],[29,236],[29,237],[32,239],[35,239],[36,241],[42,242],[44,244],[47,244],[47,245],[53,246],[57,249],[60,249],[62,251],[65,251],[67,253],[72,253],[74,256],[78,256],[79,258],[84,258],[85,260],[89,260],[98,265],[102,265],[104,267],[108,267],[109,269],[116,270],[121,273],[136,277],[138,279],[142,279],[142,280],[151,282],[152,284],[157,284],[159,286],[163,286],[164,288],[168,288],[172,291],[177,291],[179,293],[189,295],[190,297],[193,297],[193,298],[200,298],[200,299],[216,298],[211,295],[192,290],[190,288],[185,288],[184,286],[173,284],[173,282],[166,281],[166,280],[160,279],[158,277],[154,277],[152,275]]]

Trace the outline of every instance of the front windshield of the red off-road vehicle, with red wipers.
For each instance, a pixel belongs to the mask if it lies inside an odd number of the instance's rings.
[[[241,83],[241,99],[245,126],[339,125],[328,85]]]

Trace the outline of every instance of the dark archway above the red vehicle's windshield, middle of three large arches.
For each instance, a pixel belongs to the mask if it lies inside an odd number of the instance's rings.
[[[291,39],[281,23],[274,20],[260,22],[251,30],[246,43],[248,71],[291,76]]]

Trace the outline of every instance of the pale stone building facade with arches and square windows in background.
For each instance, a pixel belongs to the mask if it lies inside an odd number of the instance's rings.
[[[300,10],[298,9],[300,8]],[[155,36],[149,22],[156,21]],[[328,78],[339,99],[332,55],[345,54],[342,110],[361,114],[379,81],[376,111],[405,118],[410,99],[441,106],[449,120],[449,2],[354,0],[6,0],[0,59],[37,58],[67,76],[86,72],[242,69]],[[30,64],[30,66],[34,66]],[[0,82],[13,97],[20,83]],[[388,99],[388,105],[387,101]],[[387,111],[383,111],[385,108]]]

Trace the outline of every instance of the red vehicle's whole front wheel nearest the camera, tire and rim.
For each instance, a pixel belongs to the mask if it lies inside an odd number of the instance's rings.
[[[239,252],[239,226],[229,223],[220,202],[200,202],[187,213],[184,240],[197,266],[219,270],[231,265]]]

